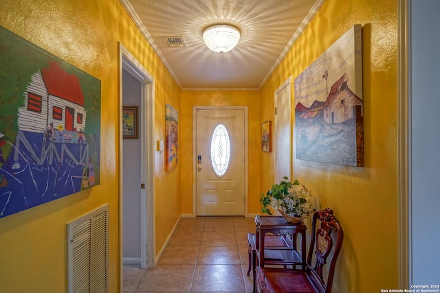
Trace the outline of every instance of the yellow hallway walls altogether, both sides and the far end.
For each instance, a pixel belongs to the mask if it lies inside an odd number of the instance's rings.
[[[322,207],[333,208],[344,227],[333,292],[397,288],[396,10],[396,0],[327,0],[261,91],[180,91],[118,0],[3,0],[1,26],[101,80],[102,171],[100,185],[89,191],[0,219],[1,291],[65,292],[65,224],[109,203],[109,280],[111,292],[118,292],[118,42],[155,78],[156,140],[164,139],[165,104],[179,111],[178,167],[165,172],[163,154],[155,152],[157,253],[180,213],[193,213],[192,140],[181,139],[192,137],[192,106],[249,107],[248,212],[259,213],[259,194],[274,180],[273,153],[260,150],[261,123],[274,120],[274,91],[355,23],[363,34],[366,167],[294,160],[292,176],[313,189]]]

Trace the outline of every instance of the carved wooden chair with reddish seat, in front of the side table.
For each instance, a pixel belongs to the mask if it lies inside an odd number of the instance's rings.
[[[319,227],[318,222],[320,222]],[[330,293],[336,260],[342,247],[344,232],[333,210],[316,211],[311,224],[311,239],[305,270],[256,268],[256,283],[263,293]],[[333,238],[336,243],[333,243]],[[333,253],[332,253],[333,252]],[[323,271],[329,258],[327,278]],[[312,264],[313,263],[313,264]]]

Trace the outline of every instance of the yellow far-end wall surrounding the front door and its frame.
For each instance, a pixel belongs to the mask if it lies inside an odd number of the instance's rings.
[[[193,106],[248,106],[248,212],[259,210],[259,168],[261,150],[260,93],[259,91],[181,91],[179,120],[180,137],[192,137]],[[192,157],[192,139],[181,139],[181,212],[192,211],[192,184],[195,158]]]

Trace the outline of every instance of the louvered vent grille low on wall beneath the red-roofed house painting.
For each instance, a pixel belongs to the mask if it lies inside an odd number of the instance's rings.
[[[108,293],[109,205],[67,224],[69,293]]]

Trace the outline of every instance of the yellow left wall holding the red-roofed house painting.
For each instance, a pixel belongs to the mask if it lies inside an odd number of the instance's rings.
[[[118,42],[155,78],[157,140],[165,104],[179,110],[180,89],[118,0],[3,0],[0,25],[98,78],[102,126],[100,185],[0,219],[0,291],[67,292],[66,223],[108,203],[110,292],[119,292]],[[181,213],[179,185],[179,167],[165,172],[156,152],[156,253]]]

